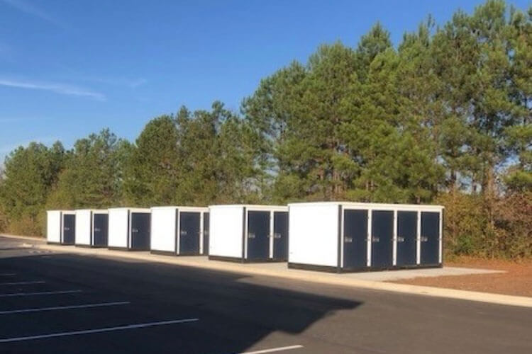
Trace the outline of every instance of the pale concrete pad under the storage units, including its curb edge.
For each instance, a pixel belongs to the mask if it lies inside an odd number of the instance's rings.
[[[6,237],[17,238],[17,236],[1,235]],[[28,238],[26,238],[28,239]],[[499,295],[486,292],[472,292],[466,290],[445,289],[440,287],[427,287],[419,285],[397,284],[385,282],[398,279],[397,277],[408,276],[416,278],[419,276],[441,275],[465,275],[477,273],[497,273],[497,270],[472,270],[471,268],[433,268],[433,269],[416,269],[416,270],[391,270],[385,272],[367,272],[367,273],[321,273],[311,270],[298,270],[287,268],[287,263],[233,263],[223,261],[209,261],[206,256],[160,256],[149,252],[139,251],[111,251],[109,249],[85,249],[75,246],[59,246],[49,244],[35,244],[35,248],[46,249],[64,253],[78,253],[87,256],[106,256],[121,257],[137,261],[152,261],[182,265],[187,267],[205,268],[224,272],[264,275],[292,280],[301,280],[307,282],[318,282],[328,285],[339,285],[343,287],[362,287],[372,290],[384,290],[392,292],[401,292],[414,295],[425,295],[433,297],[447,297],[452,299],[464,299],[477,302],[489,302],[492,304],[505,304],[521,307],[532,307],[532,297]],[[410,275],[410,272],[412,275]],[[414,275],[416,272],[416,275]],[[382,273],[382,274],[381,274]],[[400,278],[399,278],[400,279]],[[402,278],[404,279],[404,278]]]

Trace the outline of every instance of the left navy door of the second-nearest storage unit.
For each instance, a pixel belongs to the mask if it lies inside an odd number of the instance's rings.
[[[248,212],[248,259],[266,260],[270,256],[270,212]]]

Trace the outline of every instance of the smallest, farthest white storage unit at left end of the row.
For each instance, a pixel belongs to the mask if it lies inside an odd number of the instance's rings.
[[[48,244],[74,244],[76,215],[72,210],[46,212],[46,240]]]

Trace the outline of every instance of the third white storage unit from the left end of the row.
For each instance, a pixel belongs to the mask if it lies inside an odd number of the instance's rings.
[[[109,209],[109,249],[150,251],[150,210]]]

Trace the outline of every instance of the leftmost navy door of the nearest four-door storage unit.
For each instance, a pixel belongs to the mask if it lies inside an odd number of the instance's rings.
[[[343,211],[343,268],[367,267],[367,210]]]

